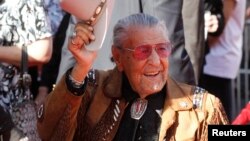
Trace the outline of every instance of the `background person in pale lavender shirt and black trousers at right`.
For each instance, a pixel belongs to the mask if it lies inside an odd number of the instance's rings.
[[[222,101],[231,121],[232,80],[238,74],[243,46],[246,0],[224,0],[225,27],[218,37],[208,37],[209,51],[200,86],[215,94]]]

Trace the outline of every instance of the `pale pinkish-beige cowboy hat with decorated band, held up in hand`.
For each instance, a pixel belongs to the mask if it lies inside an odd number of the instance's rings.
[[[114,0],[60,0],[60,5],[77,19],[93,25],[96,39],[85,47],[91,51],[100,49],[111,19]]]

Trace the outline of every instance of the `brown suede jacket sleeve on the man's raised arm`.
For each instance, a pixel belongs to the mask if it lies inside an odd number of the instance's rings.
[[[42,140],[72,140],[78,109],[83,96],[73,95],[66,86],[65,76],[39,108],[37,127]]]

